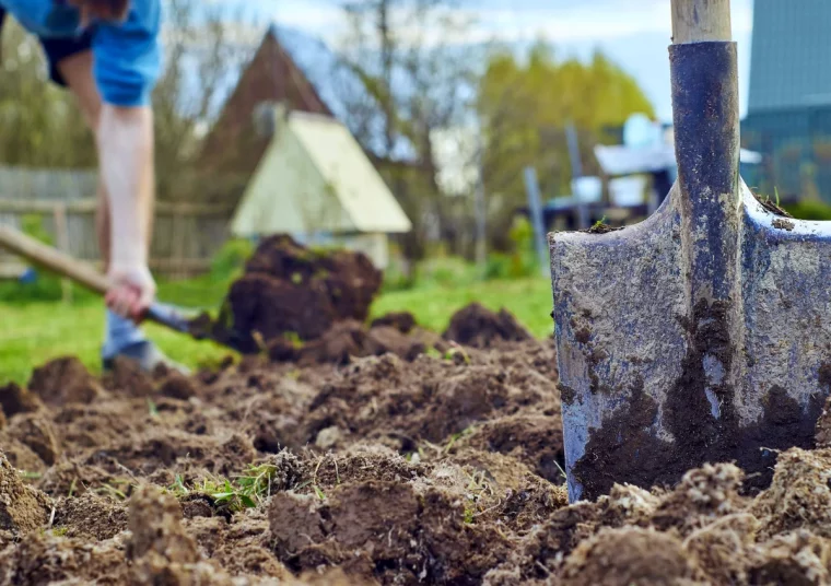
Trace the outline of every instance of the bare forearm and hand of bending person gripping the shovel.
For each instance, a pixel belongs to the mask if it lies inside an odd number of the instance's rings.
[[[148,269],[154,200],[152,109],[105,103],[97,142],[112,226],[108,276],[114,288],[107,303],[138,319],[155,296]]]

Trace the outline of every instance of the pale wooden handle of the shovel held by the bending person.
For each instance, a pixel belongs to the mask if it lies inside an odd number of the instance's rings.
[[[100,295],[109,290],[109,281],[94,267],[59,253],[11,226],[0,225],[0,246]]]

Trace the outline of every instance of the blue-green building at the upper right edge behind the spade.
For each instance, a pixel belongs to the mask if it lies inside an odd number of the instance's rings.
[[[831,0],[756,0],[742,146],[764,154],[748,185],[831,201]]]

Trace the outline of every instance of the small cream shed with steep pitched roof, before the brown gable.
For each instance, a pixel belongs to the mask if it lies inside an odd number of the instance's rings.
[[[237,237],[290,234],[340,245],[388,265],[388,236],[412,223],[348,128],[320,114],[264,104],[270,142],[231,222]]]

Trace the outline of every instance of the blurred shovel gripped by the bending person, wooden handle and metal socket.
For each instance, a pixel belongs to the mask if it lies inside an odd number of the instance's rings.
[[[105,295],[109,290],[107,278],[90,265],[46,246],[11,226],[0,225],[0,246],[98,295]],[[148,308],[144,319],[188,335],[194,339],[211,340],[231,350],[239,351],[234,343],[235,336],[226,335],[220,340],[211,333],[210,319],[197,315],[196,312],[156,302]]]

